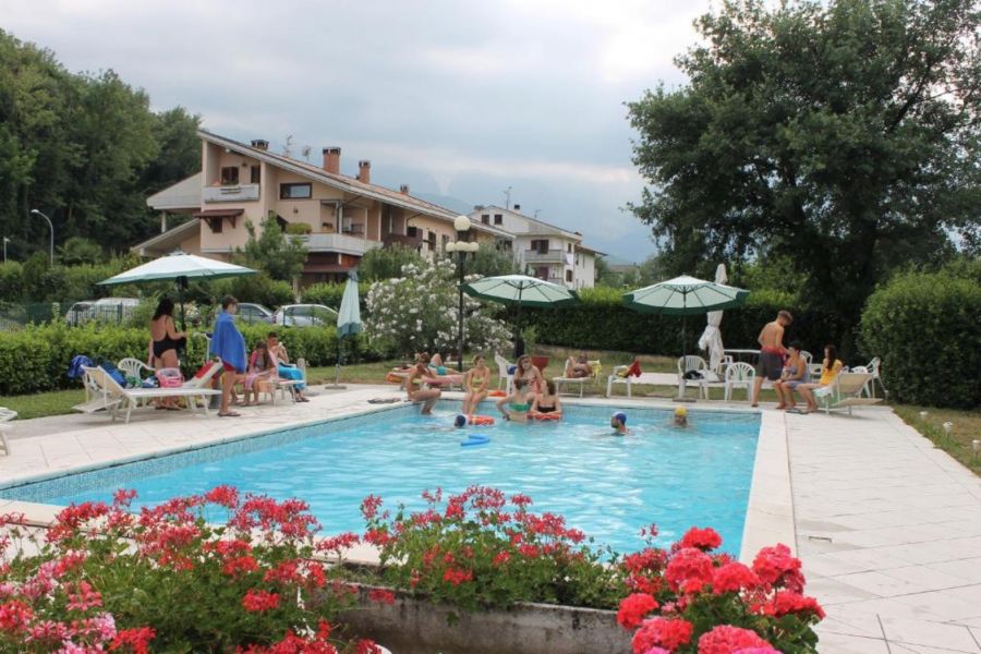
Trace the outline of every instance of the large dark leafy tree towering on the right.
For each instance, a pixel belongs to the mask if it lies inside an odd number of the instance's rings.
[[[633,210],[674,272],[785,257],[855,326],[897,266],[977,247],[979,5],[767,5],[702,16],[676,60],[688,83],[629,104],[649,183]]]

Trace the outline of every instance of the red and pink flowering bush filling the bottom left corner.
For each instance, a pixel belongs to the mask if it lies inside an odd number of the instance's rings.
[[[298,500],[230,487],[138,514],[112,505],[61,511],[47,530],[0,516],[0,651],[337,652],[330,620],[352,604],[313,560],[318,525]],[[205,521],[226,512],[223,525]],[[377,652],[370,641],[344,649]]]

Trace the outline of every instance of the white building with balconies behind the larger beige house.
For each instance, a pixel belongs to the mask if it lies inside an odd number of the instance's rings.
[[[581,233],[525,216],[520,205],[513,209],[477,206],[470,213],[470,220],[512,234],[514,259],[529,275],[570,289],[593,288],[596,256],[603,253],[583,245]]]

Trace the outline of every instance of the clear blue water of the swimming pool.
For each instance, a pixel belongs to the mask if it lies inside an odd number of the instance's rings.
[[[568,407],[561,423],[471,427],[491,437],[460,447],[450,425],[456,405],[433,416],[400,407],[372,416],[326,422],[191,452],[0,491],[0,496],[68,505],[111,500],[135,488],[136,506],[230,484],[278,499],[299,497],[325,533],[363,531],[359,507],[368,494],[386,506],[425,506],[420,493],[481,484],[524,493],[536,511],[618,552],[643,545],[652,522],[667,544],[691,525],[713,526],[723,548],[739,554],[760,421],[756,414],[692,411],[691,426],[670,425],[669,410],[630,409],[626,437],[608,426],[616,408]]]

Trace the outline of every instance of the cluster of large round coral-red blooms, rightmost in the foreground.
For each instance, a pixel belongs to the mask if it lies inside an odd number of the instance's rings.
[[[711,554],[720,544],[714,530],[691,529],[669,550],[647,547],[622,559],[633,593],[617,621],[635,630],[634,654],[816,652],[812,627],[824,611],[802,595],[800,560],[776,545],[748,567]]]

